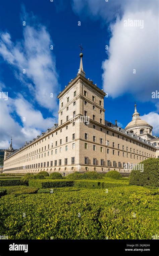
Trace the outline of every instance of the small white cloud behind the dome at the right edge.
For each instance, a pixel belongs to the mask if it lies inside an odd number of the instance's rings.
[[[150,112],[149,114],[144,114],[140,118],[153,126],[153,135],[159,136],[159,114]]]

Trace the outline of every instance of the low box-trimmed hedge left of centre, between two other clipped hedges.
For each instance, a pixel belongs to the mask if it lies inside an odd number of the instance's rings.
[[[73,187],[74,181],[63,180],[29,180],[29,186],[37,188]]]

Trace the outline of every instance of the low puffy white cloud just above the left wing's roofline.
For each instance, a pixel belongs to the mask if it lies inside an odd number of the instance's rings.
[[[11,136],[13,137],[13,148],[18,149],[24,145],[25,141],[32,140],[55,123],[54,118],[43,118],[41,112],[35,110],[20,94],[16,99],[9,97],[7,101],[0,99],[0,109],[1,149],[9,147]],[[21,119],[21,125],[16,121],[15,117],[17,116]],[[26,119],[25,122],[23,122],[23,117]]]

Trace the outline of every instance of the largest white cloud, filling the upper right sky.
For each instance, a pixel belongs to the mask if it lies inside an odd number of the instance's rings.
[[[140,101],[151,100],[158,86],[158,1],[72,0],[72,8],[82,17],[111,22],[109,58],[102,64],[103,88],[109,96],[131,93]],[[124,27],[128,19],[143,20],[144,28]]]

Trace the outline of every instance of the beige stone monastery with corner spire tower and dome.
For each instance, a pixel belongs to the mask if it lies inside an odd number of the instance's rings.
[[[105,120],[105,92],[86,78],[82,63],[77,76],[59,93],[58,124],[19,150],[5,150],[4,171],[9,173],[79,171],[127,175],[131,164],[159,157],[159,138],[152,126],[140,119],[135,105],[133,120],[125,129]],[[152,142],[152,143],[151,143]],[[158,147],[159,148],[159,147]]]

